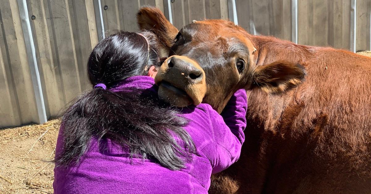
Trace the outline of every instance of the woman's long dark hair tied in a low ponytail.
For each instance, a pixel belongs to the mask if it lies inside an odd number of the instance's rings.
[[[79,162],[92,138],[98,142],[108,138],[128,149],[131,158],[155,159],[174,170],[184,167],[194,150],[183,129],[187,120],[157,96],[108,90],[128,77],[147,75],[151,65],[160,66],[156,40],[151,32],[120,31],[95,46],[89,56],[88,77],[93,85],[105,84],[107,90],[86,91],[64,111],[63,150],[56,155],[57,165]]]

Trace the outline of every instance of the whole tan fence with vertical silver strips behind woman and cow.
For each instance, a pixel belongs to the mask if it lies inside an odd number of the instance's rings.
[[[371,45],[371,0],[0,0],[0,127],[45,122],[91,89],[92,48],[105,30],[137,31],[142,5],[159,7],[178,29],[221,18],[299,44]]]

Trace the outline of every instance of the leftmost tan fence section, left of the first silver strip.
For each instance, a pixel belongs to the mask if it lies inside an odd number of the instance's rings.
[[[4,35],[1,50],[3,50],[3,57],[6,58],[3,61],[5,62],[7,78],[10,78],[12,82],[9,85],[9,90],[12,91],[13,95],[10,97],[14,98],[14,101],[11,100],[13,102],[12,107],[14,107],[13,113],[3,118],[4,125],[14,123],[9,122],[13,120],[10,116],[17,117],[14,124],[37,122],[35,94],[33,93],[17,1],[0,1],[0,4],[1,26]],[[18,116],[15,114],[18,114]],[[3,125],[3,122],[1,125]]]

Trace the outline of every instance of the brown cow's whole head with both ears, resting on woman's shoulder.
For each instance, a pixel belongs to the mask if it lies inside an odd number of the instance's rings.
[[[139,28],[154,32],[170,56],[155,81],[159,96],[177,106],[204,101],[221,112],[239,88],[280,93],[304,78],[298,64],[279,61],[257,66],[252,62],[256,49],[250,35],[232,22],[194,20],[178,31],[154,7],[142,7],[137,19]]]

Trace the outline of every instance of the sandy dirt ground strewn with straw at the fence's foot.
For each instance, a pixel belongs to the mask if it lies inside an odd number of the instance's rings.
[[[358,54],[370,56],[371,51]],[[0,193],[53,193],[60,120],[0,130]]]

